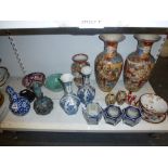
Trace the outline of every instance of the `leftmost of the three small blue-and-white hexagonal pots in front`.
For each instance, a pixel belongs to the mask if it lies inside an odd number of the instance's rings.
[[[82,107],[82,115],[88,125],[98,125],[102,118],[103,109],[99,103],[90,103]]]

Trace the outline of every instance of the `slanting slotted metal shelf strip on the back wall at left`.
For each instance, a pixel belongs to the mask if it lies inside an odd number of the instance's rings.
[[[22,59],[21,59],[22,55],[20,54],[20,52],[18,52],[18,50],[17,50],[17,47],[16,47],[16,44],[15,44],[15,41],[14,41],[13,37],[11,36],[11,34],[10,34],[9,31],[8,31],[8,36],[9,36],[8,38],[9,38],[9,40],[10,40],[10,44],[11,44],[13,51],[14,51],[15,57],[16,57],[17,63],[18,63],[18,65],[20,65],[20,68],[21,68],[21,70],[22,70],[23,75],[25,75],[25,74],[26,74],[26,69],[25,69],[24,63],[23,63],[23,61],[22,61]]]

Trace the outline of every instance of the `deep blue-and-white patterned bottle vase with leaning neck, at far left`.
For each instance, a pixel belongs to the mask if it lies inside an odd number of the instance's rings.
[[[7,92],[10,95],[10,109],[17,116],[26,115],[30,109],[30,103],[27,99],[20,96],[12,87],[7,87]]]

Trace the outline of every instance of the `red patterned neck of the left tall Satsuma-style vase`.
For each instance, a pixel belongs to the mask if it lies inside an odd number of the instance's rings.
[[[118,42],[105,41],[104,50],[107,54],[114,56],[117,53]]]

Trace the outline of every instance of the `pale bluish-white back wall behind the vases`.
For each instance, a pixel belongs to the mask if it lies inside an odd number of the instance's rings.
[[[104,43],[98,35],[36,35],[13,36],[13,38],[27,74],[42,72],[48,76],[53,73],[68,73],[70,72],[72,56],[77,53],[88,54],[89,62],[94,67],[95,56],[104,49]],[[163,39],[153,46],[152,54],[155,57],[159,54],[161,43]],[[118,46],[118,52],[126,59],[135,48],[137,40],[132,35],[126,35],[126,39]],[[2,59],[1,65],[9,68],[11,76],[23,76],[7,36],[0,37],[0,57]]]

